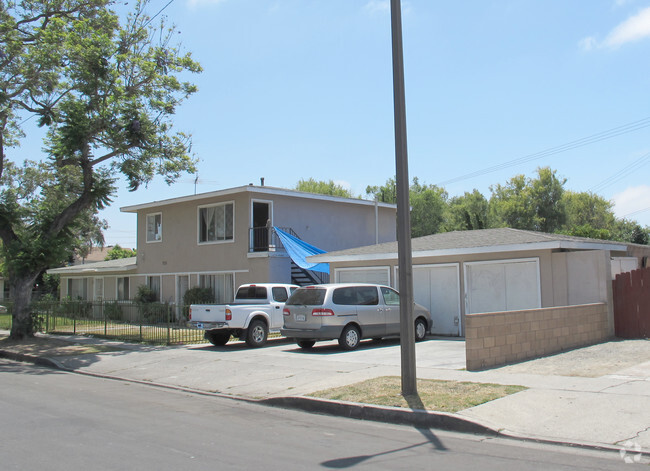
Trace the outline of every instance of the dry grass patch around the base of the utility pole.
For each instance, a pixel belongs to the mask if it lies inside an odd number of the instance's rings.
[[[401,379],[397,376],[384,376],[317,391],[309,396],[380,406],[458,412],[526,389],[523,386],[435,379],[419,379],[417,386],[419,396],[404,397],[401,393]]]

